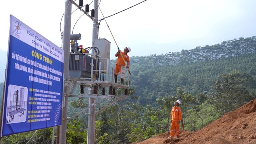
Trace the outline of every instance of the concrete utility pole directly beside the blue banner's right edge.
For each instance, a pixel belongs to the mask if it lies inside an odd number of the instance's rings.
[[[63,32],[63,50],[64,50],[64,90],[63,90],[63,103],[62,103],[62,126],[60,133],[60,144],[66,144],[67,135],[67,100],[66,96],[69,80],[69,49],[70,49],[70,31],[71,31],[71,6],[69,0],[65,0],[65,19],[64,19],[64,32]]]

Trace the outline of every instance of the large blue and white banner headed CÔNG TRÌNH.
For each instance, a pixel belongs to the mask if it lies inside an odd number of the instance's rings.
[[[10,15],[1,136],[61,125],[63,67],[64,50]]]

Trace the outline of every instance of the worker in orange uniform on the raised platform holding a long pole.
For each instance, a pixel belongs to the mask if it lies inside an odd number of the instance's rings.
[[[121,52],[121,50],[118,50],[115,53],[115,57],[117,57],[117,60],[115,63],[115,83],[117,83],[117,75],[121,71],[121,65],[125,66],[125,61],[127,63],[126,68],[129,69],[130,59],[129,59],[129,56],[127,55],[128,52],[131,52],[130,47],[125,47],[123,52]],[[123,55],[123,58],[120,53]],[[121,84],[123,84],[123,79],[121,79],[120,81],[121,81]]]

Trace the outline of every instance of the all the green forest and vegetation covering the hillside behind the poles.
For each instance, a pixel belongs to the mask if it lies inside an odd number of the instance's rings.
[[[97,144],[130,144],[168,132],[175,100],[181,101],[185,130],[196,131],[256,98],[256,36],[181,52],[133,56],[130,61],[129,96],[96,115]],[[117,90],[116,95],[121,92]],[[97,104],[96,109],[111,101]],[[68,117],[87,106],[87,98],[70,98]],[[85,113],[67,121],[67,144],[87,143]],[[48,128],[4,136],[0,143],[52,143],[52,132]]]

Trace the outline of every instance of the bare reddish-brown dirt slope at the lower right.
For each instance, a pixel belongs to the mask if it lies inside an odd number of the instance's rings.
[[[180,138],[169,133],[134,144],[256,144],[256,98],[201,130],[182,131]]]

